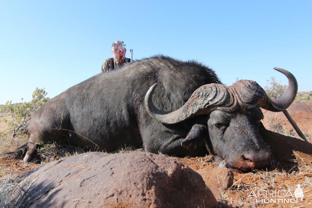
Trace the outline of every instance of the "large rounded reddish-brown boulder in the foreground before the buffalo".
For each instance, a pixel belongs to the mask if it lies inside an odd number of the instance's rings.
[[[32,207],[214,207],[212,192],[189,167],[148,152],[88,152],[27,172],[15,205]]]

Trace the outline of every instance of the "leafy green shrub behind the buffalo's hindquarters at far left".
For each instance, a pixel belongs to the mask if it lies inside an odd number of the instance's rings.
[[[0,107],[0,111],[8,110],[8,115],[12,118],[12,121],[8,121],[5,118],[3,118],[2,121],[7,123],[10,127],[13,138],[27,133],[29,120],[32,115],[50,99],[47,98],[46,95],[47,92],[45,88],[36,88],[32,93],[32,100],[30,102],[12,104],[12,101],[7,101],[5,105]]]

